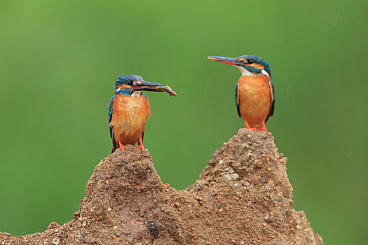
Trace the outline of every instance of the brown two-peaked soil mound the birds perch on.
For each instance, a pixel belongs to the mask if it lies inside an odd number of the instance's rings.
[[[270,133],[239,130],[186,190],[161,182],[148,151],[125,149],[95,167],[72,221],[0,233],[0,244],[323,244],[292,209],[287,159]]]

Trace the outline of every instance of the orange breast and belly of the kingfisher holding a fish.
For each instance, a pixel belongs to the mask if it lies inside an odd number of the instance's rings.
[[[113,104],[111,125],[115,141],[122,144],[136,144],[142,137],[146,120],[151,116],[149,101],[144,96],[128,97],[116,94]]]

